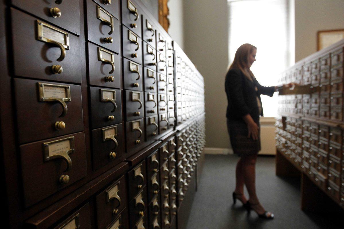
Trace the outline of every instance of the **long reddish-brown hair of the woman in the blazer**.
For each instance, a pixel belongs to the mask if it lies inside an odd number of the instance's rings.
[[[240,71],[243,72],[244,75],[252,81],[252,78],[255,78],[255,76],[247,65],[248,56],[254,49],[257,49],[257,47],[248,43],[241,45],[235,53],[233,63],[230,65],[229,70],[233,68],[240,69]]]

